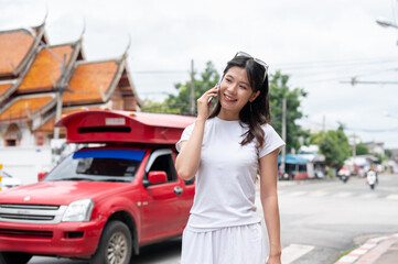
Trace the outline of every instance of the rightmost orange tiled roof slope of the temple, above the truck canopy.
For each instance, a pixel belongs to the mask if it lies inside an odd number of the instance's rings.
[[[76,67],[68,89],[74,92],[65,92],[63,97],[64,106],[79,102],[103,102],[100,89],[105,94],[115,74],[118,70],[116,61],[80,64]]]

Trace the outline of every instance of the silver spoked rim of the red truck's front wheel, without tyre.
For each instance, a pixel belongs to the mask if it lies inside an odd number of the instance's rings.
[[[122,232],[114,233],[108,242],[107,258],[109,264],[122,264],[128,254],[127,238]]]

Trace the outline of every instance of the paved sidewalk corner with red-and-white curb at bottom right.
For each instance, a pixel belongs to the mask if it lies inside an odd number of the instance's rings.
[[[397,264],[398,233],[369,239],[334,264]]]

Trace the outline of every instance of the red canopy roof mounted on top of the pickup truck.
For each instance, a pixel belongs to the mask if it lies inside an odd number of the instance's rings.
[[[83,110],[55,125],[66,128],[67,143],[175,144],[195,119],[168,113]]]

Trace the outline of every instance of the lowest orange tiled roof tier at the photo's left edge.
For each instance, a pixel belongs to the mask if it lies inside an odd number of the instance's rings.
[[[47,105],[52,99],[52,96],[20,98],[0,113],[0,121],[25,119],[28,118],[26,107],[33,114]]]

